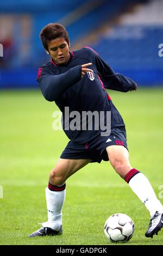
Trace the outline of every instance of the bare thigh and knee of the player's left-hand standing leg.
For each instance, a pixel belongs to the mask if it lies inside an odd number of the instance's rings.
[[[59,159],[51,174],[66,180],[91,161],[91,159]]]

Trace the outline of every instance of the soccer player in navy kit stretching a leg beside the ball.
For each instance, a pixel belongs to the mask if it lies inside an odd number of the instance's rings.
[[[62,127],[70,142],[49,174],[46,188],[48,221],[42,223],[42,228],[30,234],[30,237],[62,233],[62,206],[65,201],[67,178],[86,164],[100,163],[102,160],[110,161],[112,167],[149,210],[151,219],[145,235],[157,235],[163,227],[163,206],[156,198],[146,176],[131,167],[124,121],[105,91],[105,88],[120,92],[136,90],[136,83],[130,78],[116,74],[89,47],[71,52],[66,29],[58,23],[45,26],[40,38],[45,51],[52,59],[41,66],[37,81],[45,99],[55,101],[60,108]],[[77,129],[71,129],[72,116],[67,117],[66,107],[69,107],[70,113],[104,112],[104,124],[107,123],[107,113],[110,112],[110,133],[103,136],[100,127],[95,129],[98,118],[93,121],[91,130],[88,129],[88,119],[79,121],[79,124],[85,122],[85,126],[78,124]],[[67,124],[68,118],[70,119]]]

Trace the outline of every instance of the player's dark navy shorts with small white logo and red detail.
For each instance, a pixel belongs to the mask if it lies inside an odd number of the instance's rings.
[[[124,126],[115,127],[111,129],[111,133],[108,137],[99,136],[88,144],[78,144],[70,141],[62,152],[60,158],[92,159],[91,162],[98,163],[102,160],[109,161],[106,148],[110,145],[123,145],[127,148],[126,129]]]

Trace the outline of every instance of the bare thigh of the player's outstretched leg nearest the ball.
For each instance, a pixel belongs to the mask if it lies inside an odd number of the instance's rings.
[[[121,145],[111,145],[106,148],[109,161],[116,169],[119,166],[128,166],[130,168],[129,153],[128,150]]]

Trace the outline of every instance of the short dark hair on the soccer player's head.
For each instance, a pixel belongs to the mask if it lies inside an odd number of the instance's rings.
[[[45,50],[48,51],[48,42],[56,38],[64,37],[67,44],[70,44],[66,28],[59,23],[49,23],[42,28],[40,32],[40,39]]]

